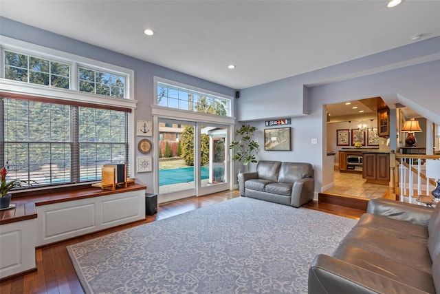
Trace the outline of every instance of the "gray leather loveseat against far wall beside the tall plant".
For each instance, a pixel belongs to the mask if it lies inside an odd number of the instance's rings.
[[[238,178],[241,196],[292,207],[314,198],[314,169],[309,163],[260,160],[255,172]]]

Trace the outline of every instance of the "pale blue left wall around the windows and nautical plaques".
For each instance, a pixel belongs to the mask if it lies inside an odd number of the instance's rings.
[[[192,85],[202,89],[210,90],[220,94],[225,94],[234,97],[235,90],[223,85],[211,83],[209,81],[202,80],[201,78],[195,78],[181,72],[176,72],[159,65],[154,65],[139,59],[134,59],[130,56],[119,54],[104,48],[99,48],[94,45],[69,39],[59,34],[40,30],[38,28],[18,23],[10,19],[0,17],[0,34],[3,36],[9,36],[14,39],[25,41],[28,43],[34,43],[47,48],[84,56],[96,61],[102,61],[104,63],[110,63],[118,65],[120,67],[126,67],[135,71],[135,99],[139,101],[137,103],[137,109],[135,110],[135,120],[153,120],[151,116],[151,105],[153,104],[153,76],[159,76],[171,81],[184,83],[186,85]],[[235,99],[232,100],[234,103]],[[139,137],[136,138],[136,146]],[[133,148],[135,156],[141,156],[142,154]],[[151,151],[152,156],[155,157],[157,149],[153,147]],[[133,165],[133,170],[135,169]],[[153,193],[153,174],[152,173],[140,173],[135,175],[137,182],[148,187],[148,192]]]

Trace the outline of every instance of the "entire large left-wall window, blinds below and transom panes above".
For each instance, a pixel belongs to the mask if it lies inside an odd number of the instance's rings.
[[[0,167],[8,180],[86,183],[113,164],[130,176],[133,70],[8,37],[0,56]]]

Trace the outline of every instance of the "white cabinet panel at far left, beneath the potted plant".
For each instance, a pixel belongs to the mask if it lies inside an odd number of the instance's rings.
[[[35,268],[35,219],[0,227],[0,278]]]

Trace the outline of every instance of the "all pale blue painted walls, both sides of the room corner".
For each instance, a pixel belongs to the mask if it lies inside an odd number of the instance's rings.
[[[135,70],[135,99],[139,101],[136,120],[152,120],[153,76],[234,96],[234,90],[228,87],[9,19],[0,18],[0,34]],[[311,162],[316,173],[316,191],[320,191],[322,162],[327,151],[325,105],[382,96],[390,107],[400,102],[440,123],[439,55],[440,37],[437,37],[243,89],[241,97],[234,100],[236,116],[239,120],[252,121],[259,128],[256,139],[261,148],[257,158]],[[427,62],[413,65],[421,61]],[[292,118],[292,151],[264,151],[264,120],[268,118]],[[317,138],[318,144],[312,145],[312,138]],[[155,154],[154,149],[152,152]],[[136,176],[142,184],[153,187],[151,173]]]

